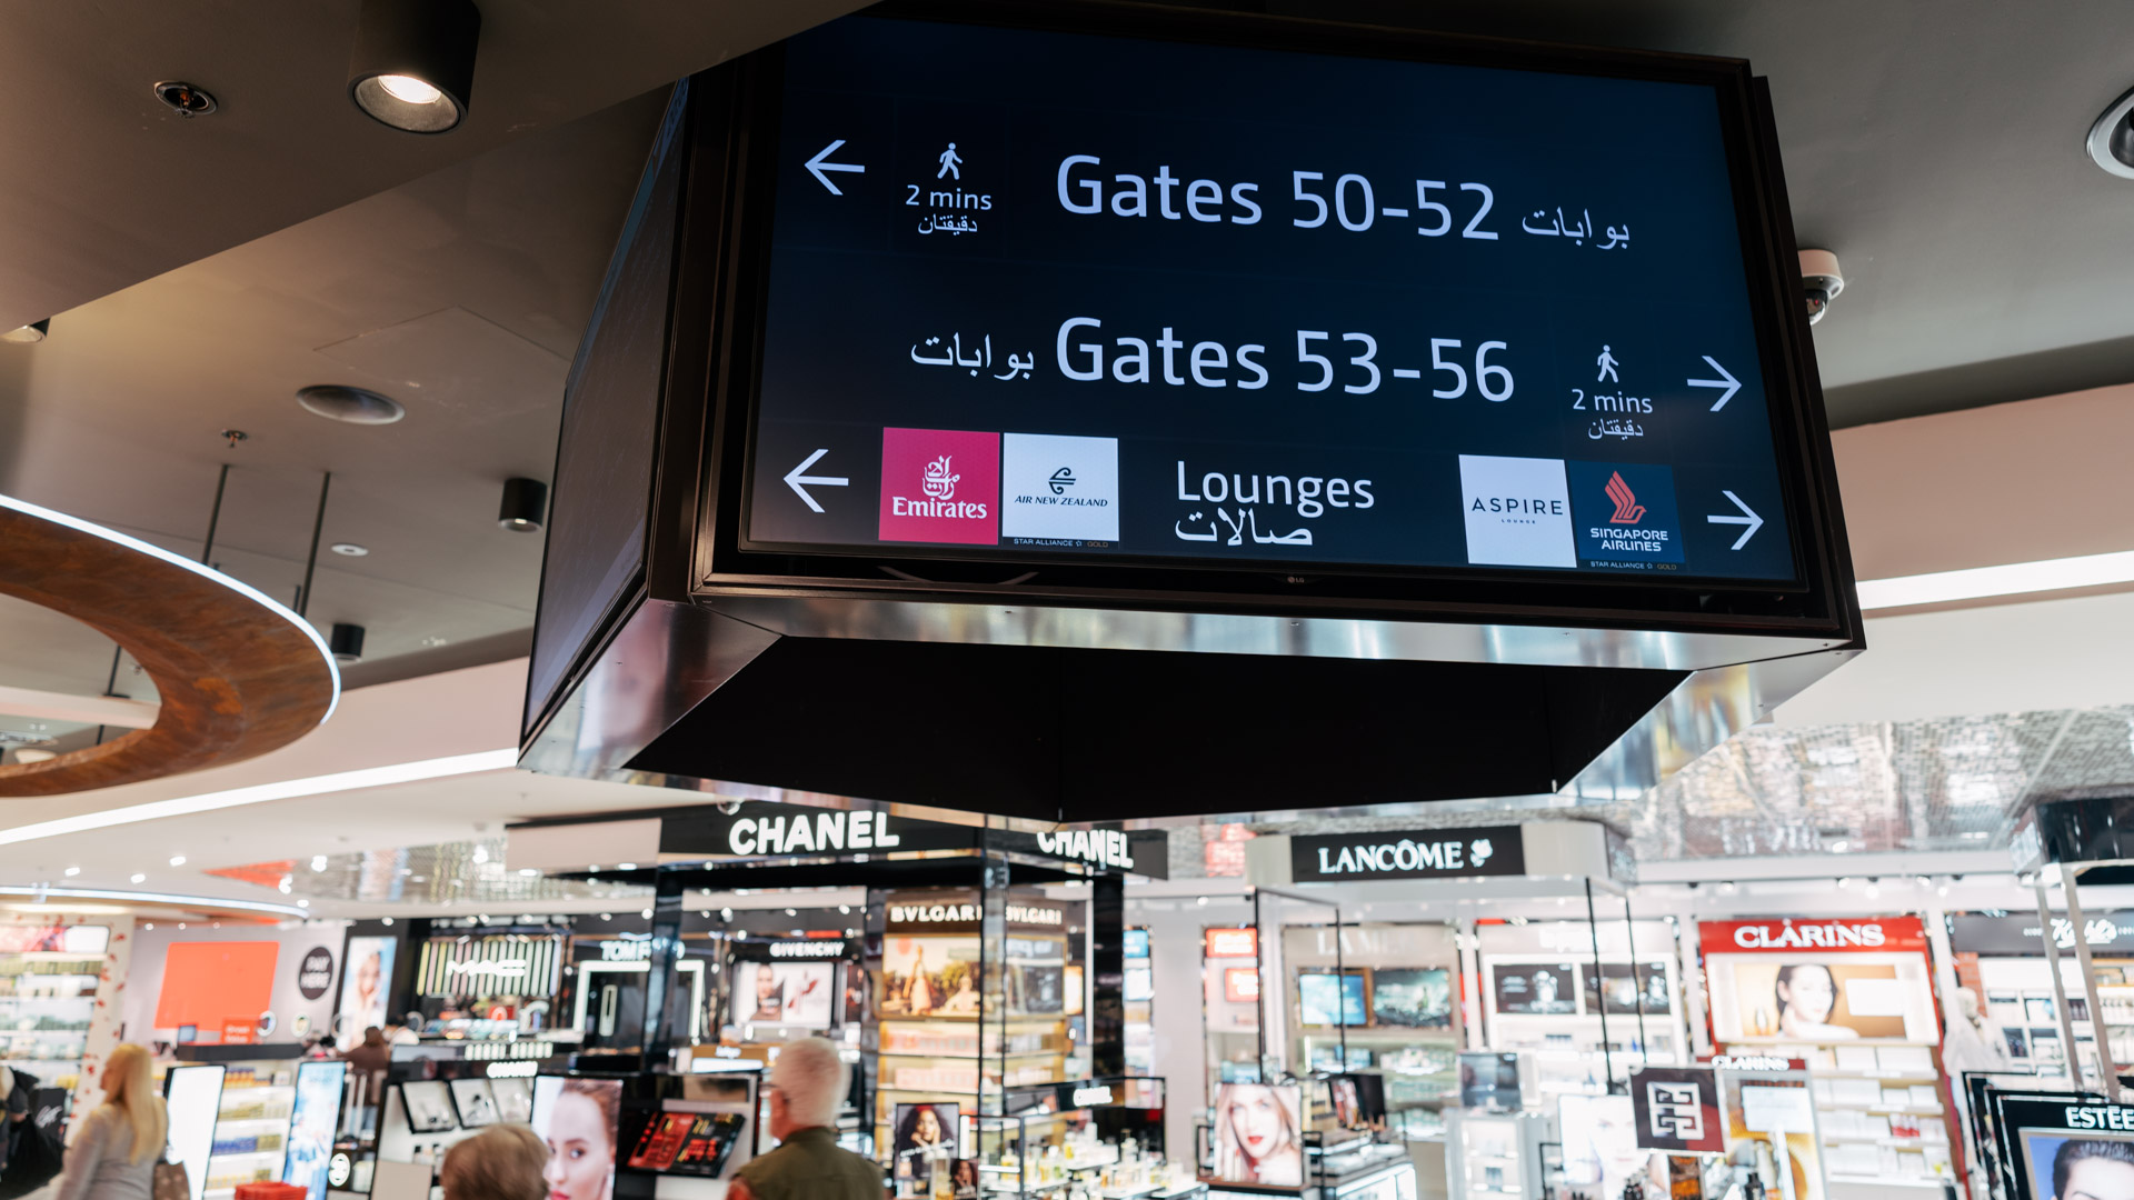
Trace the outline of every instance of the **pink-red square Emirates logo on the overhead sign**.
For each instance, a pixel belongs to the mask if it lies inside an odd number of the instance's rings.
[[[999,542],[1001,436],[881,431],[883,542]]]

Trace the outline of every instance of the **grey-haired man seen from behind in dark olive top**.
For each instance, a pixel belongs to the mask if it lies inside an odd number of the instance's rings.
[[[822,1038],[785,1042],[764,1083],[781,1144],[734,1172],[730,1200],[881,1200],[881,1168],[837,1144],[845,1061]]]

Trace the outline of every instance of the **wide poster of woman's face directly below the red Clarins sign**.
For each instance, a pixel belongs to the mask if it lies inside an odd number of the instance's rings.
[[[1936,1040],[1923,961],[1716,954],[1711,982],[1716,1031],[1726,1042]]]

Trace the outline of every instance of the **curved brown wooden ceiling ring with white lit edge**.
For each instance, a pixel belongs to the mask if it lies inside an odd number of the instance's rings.
[[[169,551],[0,495],[0,591],[66,613],[156,679],[154,728],[0,767],[0,796],[49,796],[226,767],[333,715],[341,677],[303,617]]]

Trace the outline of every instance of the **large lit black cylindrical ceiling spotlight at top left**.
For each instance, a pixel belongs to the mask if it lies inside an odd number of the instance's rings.
[[[363,0],[348,98],[405,132],[446,132],[467,115],[482,13],[467,0]]]

